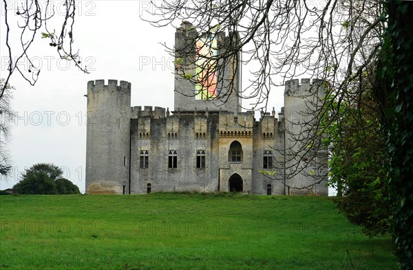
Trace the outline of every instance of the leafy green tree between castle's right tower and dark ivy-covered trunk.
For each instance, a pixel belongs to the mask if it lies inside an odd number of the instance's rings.
[[[381,131],[380,104],[372,96],[372,71],[354,81],[341,97],[335,122],[325,121],[324,144],[329,149],[330,185],[337,188],[335,200],[348,220],[363,227],[369,236],[388,234],[390,209],[387,181],[388,154]],[[327,111],[329,108],[326,108]],[[334,108],[332,111],[336,111]]]

